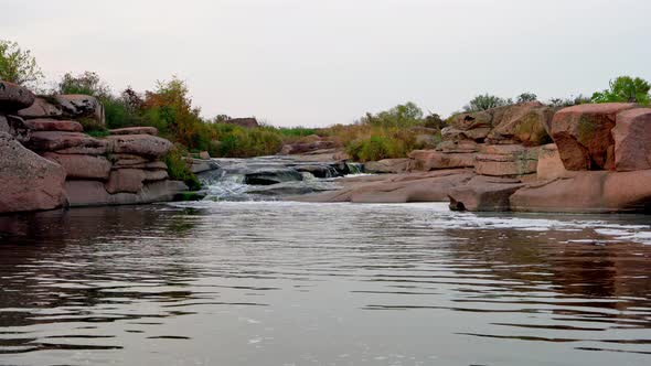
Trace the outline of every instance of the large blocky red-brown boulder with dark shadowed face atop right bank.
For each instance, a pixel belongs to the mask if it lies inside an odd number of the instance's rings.
[[[617,115],[634,106],[628,103],[579,105],[556,112],[549,134],[565,168],[570,171],[613,169],[615,141],[610,132]]]

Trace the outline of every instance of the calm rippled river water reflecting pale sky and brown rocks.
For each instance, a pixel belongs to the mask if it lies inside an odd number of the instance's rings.
[[[649,224],[442,204],[0,217],[0,365],[648,365]]]

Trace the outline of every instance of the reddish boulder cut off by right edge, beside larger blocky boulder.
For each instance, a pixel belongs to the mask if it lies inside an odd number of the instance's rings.
[[[617,115],[612,139],[617,171],[651,169],[651,109],[629,109]]]

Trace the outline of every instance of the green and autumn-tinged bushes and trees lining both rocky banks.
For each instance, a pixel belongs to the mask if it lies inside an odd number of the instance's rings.
[[[43,78],[30,51],[17,43],[0,41],[0,79],[33,87]],[[650,103],[651,86],[641,78],[621,76],[610,82],[609,88],[595,93],[591,98],[579,95],[572,98],[552,98],[552,107],[568,107],[584,103],[631,101]],[[97,97],[105,107],[106,126],[82,121],[92,136],[106,136],[107,129],[151,126],[160,136],[175,143],[175,150],[166,161],[170,175],[194,185],[195,177],[184,164],[189,153],[207,151],[211,157],[248,158],[278,153],[287,143],[309,143],[314,136],[334,141],[353,160],[373,161],[405,158],[410,151],[434,148],[440,141],[440,130],[447,126],[439,115],[427,115],[413,103],[395,106],[376,114],[365,114],[351,125],[328,128],[276,128],[259,126],[245,128],[227,123],[228,116],[201,116],[192,104],[185,82],[173,76],[158,82],[150,90],[138,92],[128,87],[113,93],[96,73],[65,74],[50,94],[86,94]],[[538,100],[533,93],[515,98],[482,94],[472,98],[462,109],[467,112],[500,106]]]

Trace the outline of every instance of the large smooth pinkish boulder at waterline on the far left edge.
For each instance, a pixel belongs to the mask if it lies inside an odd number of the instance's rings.
[[[65,170],[0,132],[0,213],[52,209],[65,203]]]

